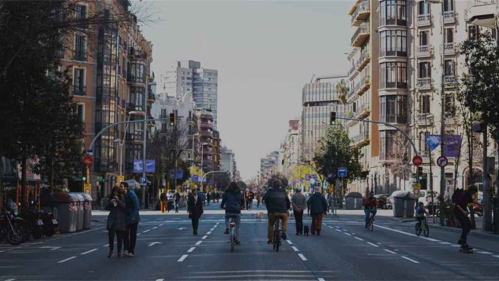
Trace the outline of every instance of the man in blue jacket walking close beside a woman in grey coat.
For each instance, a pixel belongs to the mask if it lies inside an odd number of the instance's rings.
[[[137,194],[135,194],[134,188],[130,187],[127,182],[123,182],[125,189],[127,190],[125,195],[126,203],[126,230],[125,230],[125,241],[129,241],[128,252],[125,254],[128,256],[134,256],[135,254],[135,243],[137,242],[137,227],[140,221],[140,204]],[[127,240],[128,238],[128,240]]]

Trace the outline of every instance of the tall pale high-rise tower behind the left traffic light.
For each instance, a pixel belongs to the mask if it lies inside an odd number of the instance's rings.
[[[218,70],[201,67],[195,60],[177,61],[172,70],[164,74],[164,88],[167,94],[182,96],[193,91],[196,108],[213,113],[213,128],[217,129]]]

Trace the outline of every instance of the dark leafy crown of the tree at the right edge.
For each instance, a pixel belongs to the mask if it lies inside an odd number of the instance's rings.
[[[494,41],[496,41],[494,44]],[[465,40],[459,45],[459,52],[465,56],[464,73],[461,82],[464,88],[458,99],[470,110],[488,123],[492,137],[499,141],[499,48],[497,39],[490,31],[480,38]]]

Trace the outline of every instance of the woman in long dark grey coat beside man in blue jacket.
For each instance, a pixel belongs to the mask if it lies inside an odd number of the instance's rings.
[[[109,210],[107,215],[106,228],[109,237],[109,254],[108,257],[113,256],[114,249],[114,235],[116,234],[116,244],[118,246],[118,257],[121,256],[121,245],[124,240],[125,230],[126,230],[126,206],[125,206],[125,194],[123,191],[120,192],[118,186],[114,186],[112,189],[112,199],[109,200],[105,209]],[[125,242],[125,254],[127,251],[127,243]]]

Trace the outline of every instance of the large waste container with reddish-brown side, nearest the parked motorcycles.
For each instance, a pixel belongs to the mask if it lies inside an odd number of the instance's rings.
[[[59,223],[61,233],[76,231],[78,221],[78,203],[76,195],[66,192],[53,192],[53,213]]]

